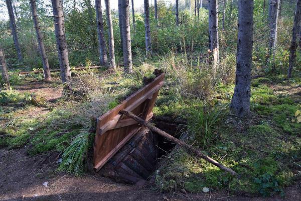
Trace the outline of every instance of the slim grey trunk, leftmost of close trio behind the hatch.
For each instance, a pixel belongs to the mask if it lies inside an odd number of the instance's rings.
[[[97,24],[97,36],[98,36],[98,51],[99,51],[99,60],[100,65],[107,65],[107,54],[106,54],[106,45],[104,40],[104,31],[103,31],[103,19],[102,19],[102,10],[101,10],[101,1],[95,0],[96,8],[96,24]]]

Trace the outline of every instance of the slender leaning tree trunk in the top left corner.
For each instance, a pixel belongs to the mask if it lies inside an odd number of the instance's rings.
[[[18,34],[17,34],[17,27],[16,27],[14,12],[13,12],[12,1],[6,0],[6,4],[7,4],[8,11],[9,11],[10,25],[11,25],[11,29],[12,29],[13,38],[14,38],[15,48],[16,48],[17,54],[18,54],[18,60],[20,62],[22,62],[23,58],[22,58],[21,47],[20,47]]]

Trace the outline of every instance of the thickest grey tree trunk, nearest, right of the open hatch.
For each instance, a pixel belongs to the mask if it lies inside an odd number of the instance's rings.
[[[238,116],[248,116],[250,114],[253,8],[253,0],[238,1],[236,77],[231,102],[231,108]]]

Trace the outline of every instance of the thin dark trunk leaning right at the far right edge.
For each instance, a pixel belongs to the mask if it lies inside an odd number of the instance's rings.
[[[294,13],[293,27],[292,27],[292,38],[289,47],[289,66],[287,70],[287,77],[291,77],[291,71],[293,68],[294,60],[296,57],[296,49],[297,49],[297,30],[298,23],[301,21],[301,0],[297,0],[296,10]]]

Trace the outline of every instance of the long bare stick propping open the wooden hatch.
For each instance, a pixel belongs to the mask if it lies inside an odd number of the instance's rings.
[[[157,127],[155,127],[154,125],[150,124],[149,122],[144,121],[143,119],[137,117],[136,115],[134,115],[131,112],[125,111],[125,110],[121,110],[119,113],[126,115],[130,118],[132,118],[133,120],[135,120],[136,122],[138,122],[139,124],[149,128],[150,130],[156,132],[157,134],[169,139],[170,141],[184,147],[186,150],[194,153],[195,155],[205,159],[206,161],[208,161],[209,163],[212,163],[213,165],[219,167],[222,170],[225,170],[227,172],[230,172],[232,175],[237,175],[237,173],[235,171],[233,171],[232,169],[225,167],[224,165],[222,165],[221,163],[215,161],[214,159],[210,158],[209,156],[203,154],[202,152],[200,152],[199,150],[193,148],[191,145],[186,144],[185,142],[183,142],[182,140],[179,140],[173,136],[171,136],[170,134],[158,129]]]

